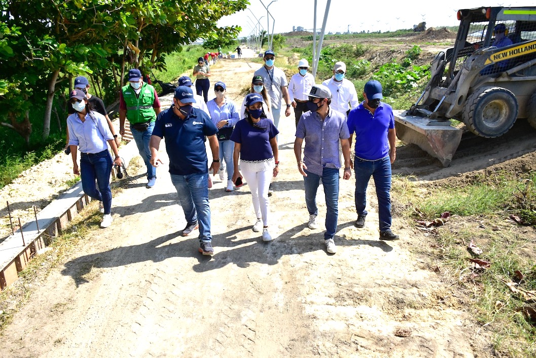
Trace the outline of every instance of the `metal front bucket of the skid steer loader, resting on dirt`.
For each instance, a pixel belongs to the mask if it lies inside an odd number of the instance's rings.
[[[426,117],[408,115],[407,111],[393,111],[394,127],[402,142],[416,144],[429,155],[440,160],[444,167],[450,165],[461,141],[462,130],[450,125],[430,125],[434,121]]]

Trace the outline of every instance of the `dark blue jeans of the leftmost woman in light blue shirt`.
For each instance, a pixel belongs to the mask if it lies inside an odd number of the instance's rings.
[[[92,199],[102,201],[105,214],[110,214],[111,210],[110,175],[112,165],[113,162],[108,150],[96,154],[80,154],[82,189]],[[95,186],[95,179],[99,189]]]

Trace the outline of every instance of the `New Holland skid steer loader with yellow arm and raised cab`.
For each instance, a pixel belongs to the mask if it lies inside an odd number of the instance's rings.
[[[459,10],[458,20],[455,45],[431,62],[420,98],[395,113],[398,138],[445,167],[463,131],[452,119],[486,138],[507,133],[517,118],[536,128],[536,7]],[[498,24],[511,45],[492,46]]]

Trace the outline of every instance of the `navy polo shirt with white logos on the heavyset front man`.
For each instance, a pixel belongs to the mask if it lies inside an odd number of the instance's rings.
[[[173,112],[173,106],[160,112],[153,129],[153,135],[166,140],[169,173],[179,176],[209,172],[205,136],[217,132],[212,120],[201,109],[192,108],[182,120]]]

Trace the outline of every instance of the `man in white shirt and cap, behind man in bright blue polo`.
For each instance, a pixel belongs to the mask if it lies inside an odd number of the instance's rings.
[[[333,67],[333,77],[326,79],[322,84],[327,86],[331,91],[330,108],[342,113],[345,118],[348,118],[350,109],[356,108],[359,105],[359,99],[354,84],[344,78],[345,74],[346,64],[339,61]]]

